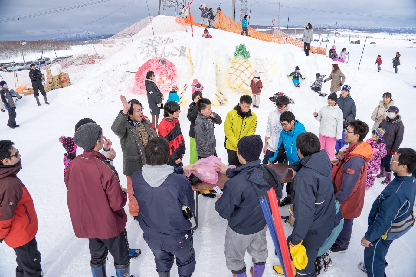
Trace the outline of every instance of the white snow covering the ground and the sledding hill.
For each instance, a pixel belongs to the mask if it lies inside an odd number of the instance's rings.
[[[183,112],[179,117],[181,128],[186,142],[188,139],[189,121],[186,119],[186,111],[191,99],[190,84],[193,78],[198,78],[205,87],[204,96],[215,100],[225,101],[225,105],[213,106],[225,120],[225,115],[233,106],[238,103],[241,94],[234,93],[225,84],[224,72],[228,63],[233,59],[235,46],[240,42],[247,45],[251,58],[249,61],[254,69],[267,71],[262,73],[261,78],[264,89],[260,109],[253,111],[258,116],[257,134],[264,139],[265,121],[267,115],[274,108],[268,97],[275,92],[285,92],[292,97],[296,104],[292,106],[293,111],[299,116],[300,121],[305,125],[307,131],[318,133],[319,122],[314,119],[314,109],[319,109],[326,104],[326,99],[318,96],[310,90],[309,85],[315,79],[315,74],[320,72],[327,76],[331,70],[331,59],[319,54],[312,54],[305,57],[305,54],[298,47],[292,45],[277,45],[255,40],[250,37],[241,37],[221,30],[210,30],[213,39],[207,40],[201,36],[203,28],[194,27],[194,37],[191,32],[172,32],[165,35],[158,35],[162,40],[170,38],[166,44],[157,44],[158,52],[163,47],[168,49],[180,49],[186,47],[186,54],[183,57],[168,54],[167,59],[174,62],[177,67],[180,94],[183,95]],[[189,31],[189,30],[188,30]],[[389,35],[386,35],[389,36]],[[374,36],[375,37],[375,36]],[[389,38],[394,36],[389,36]],[[413,36],[415,37],[415,36]],[[67,190],[64,185],[62,171],[62,155],[64,148],[59,143],[59,136],[72,136],[75,123],[84,117],[90,117],[97,121],[104,129],[104,135],[113,141],[113,146],[118,153],[114,160],[114,166],[120,173],[121,184],[125,186],[126,177],[122,175],[122,154],[119,140],[111,132],[111,124],[117,112],[122,109],[119,95],[124,94],[128,99],[136,98],[143,103],[144,114],[150,116],[146,95],[134,94],[134,74],[125,71],[136,71],[141,64],[149,59],[146,56],[144,44],[153,40],[153,37],[144,37],[135,40],[133,44],[114,54],[113,57],[102,62],[102,67],[97,66],[74,74],[71,77],[71,87],[57,89],[48,92],[50,105],[42,104],[36,106],[33,96],[23,96],[17,102],[17,124],[21,128],[10,129],[6,126],[7,114],[0,113],[0,134],[1,139],[11,139],[16,143],[22,155],[23,168],[18,177],[25,183],[30,191],[37,210],[39,230],[37,242],[42,253],[42,267],[45,277],[51,276],[91,276],[89,267],[89,248],[86,239],[79,239],[74,236],[71,220],[69,218],[66,204]],[[360,69],[357,70],[362,52],[364,39],[361,45],[350,46],[349,64],[340,64],[351,89],[352,98],[357,104],[357,119],[365,121],[371,127],[373,121],[370,115],[378,105],[384,92],[391,92],[396,106],[400,109],[405,125],[404,141],[402,147],[415,147],[412,143],[416,136],[416,124],[414,123],[416,89],[416,49],[411,48],[410,42],[401,38],[384,40],[383,37],[374,38],[376,45],[367,45],[361,61]],[[312,43],[319,46],[319,42]],[[348,48],[348,38],[337,38],[337,51],[343,47]],[[324,46],[324,45],[323,45]],[[332,44],[331,44],[332,46]],[[330,46],[329,46],[330,47]],[[151,47],[154,49],[153,47]],[[189,48],[189,49],[188,49]],[[329,49],[329,48],[328,48]],[[401,53],[401,66],[399,74],[394,72],[391,59],[396,51]],[[67,53],[65,53],[67,54]],[[75,54],[68,53],[68,54]],[[377,72],[374,62],[376,56],[381,54],[383,64],[382,71]],[[191,57],[188,57],[191,55]],[[191,63],[191,62],[192,63]],[[287,74],[300,67],[300,72],[305,80],[301,80],[301,88],[293,87]],[[150,70],[150,69],[149,69]],[[328,92],[330,84],[324,84],[322,91]],[[12,87],[12,86],[11,86]],[[186,89],[184,91],[184,89]],[[163,92],[167,98],[167,92]],[[217,138],[217,153],[220,158],[227,161],[227,154],[223,148],[224,131],[223,126],[215,128]],[[369,136],[368,136],[369,137]],[[186,153],[184,160],[188,161],[189,153]],[[262,157],[261,157],[262,158]],[[377,179],[371,190],[366,192],[364,209],[360,218],[354,220],[354,229],[349,250],[342,254],[331,254],[333,260],[332,268],[322,273],[323,277],[350,277],[366,276],[361,272],[357,264],[363,260],[363,248],[360,240],[367,228],[367,216],[376,196],[384,188],[381,180]],[[224,235],[227,221],[220,218],[214,209],[215,199],[200,197],[199,205],[199,228],[194,233],[194,247],[196,250],[196,270],[194,276],[204,277],[230,277],[231,272],[225,267],[224,257]],[[125,207],[128,213],[127,205]],[[291,228],[284,223],[285,233],[289,235]],[[131,262],[131,273],[137,273],[141,277],[156,277],[154,257],[142,238],[142,231],[139,224],[129,217],[126,226],[130,247],[139,247],[142,255]],[[416,252],[416,228],[409,231],[407,235],[395,241],[386,257],[389,267],[386,269],[387,276],[416,276],[414,261]],[[272,265],[278,263],[274,255],[274,246],[267,235],[269,258],[264,276],[275,276]],[[9,277],[14,275],[15,253],[4,243],[0,246],[0,276]],[[115,275],[112,267],[112,257],[109,255],[107,265],[108,275]],[[248,269],[251,266],[251,259],[248,255],[245,258]],[[173,266],[172,276],[176,276],[176,265]]]

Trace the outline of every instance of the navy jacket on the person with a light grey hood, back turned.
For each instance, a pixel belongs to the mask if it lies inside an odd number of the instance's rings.
[[[182,167],[174,172],[157,188],[151,187],[143,178],[143,170],[131,176],[134,197],[139,203],[139,224],[150,237],[180,237],[191,229],[192,224],[182,213],[182,205],[195,213],[195,202],[191,182]]]

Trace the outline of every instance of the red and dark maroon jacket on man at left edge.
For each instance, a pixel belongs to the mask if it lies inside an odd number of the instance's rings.
[[[30,242],[37,233],[32,197],[16,174],[20,163],[0,166],[0,239],[13,248]]]

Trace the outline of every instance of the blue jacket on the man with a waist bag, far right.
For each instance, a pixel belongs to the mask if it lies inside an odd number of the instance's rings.
[[[396,176],[396,173],[394,173]],[[365,238],[368,241],[379,239],[391,224],[406,219],[415,204],[416,178],[412,176],[396,176],[374,201],[368,215],[368,229]],[[377,202],[379,211],[377,212]]]

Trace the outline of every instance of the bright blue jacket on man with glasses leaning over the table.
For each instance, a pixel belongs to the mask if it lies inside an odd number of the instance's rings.
[[[289,160],[289,165],[299,161],[299,156],[297,156],[296,138],[302,133],[306,133],[305,126],[297,120],[295,120],[295,128],[293,128],[292,131],[282,130],[279,142],[277,143],[278,148],[275,151],[275,155],[273,155],[269,161],[272,163],[277,156],[282,156],[285,151],[287,159]]]

